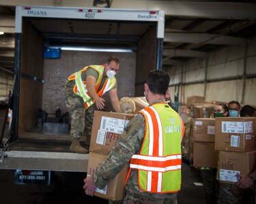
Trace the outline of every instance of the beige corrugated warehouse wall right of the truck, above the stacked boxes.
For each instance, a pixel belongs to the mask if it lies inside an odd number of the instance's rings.
[[[180,103],[186,103],[187,97],[193,95],[205,95],[205,101],[228,103],[236,100],[255,105],[255,64],[256,37],[253,37],[249,41],[247,51],[246,46],[226,46],[209,53],[208,58],[193,58],[184,65],[169,67],[169,89],[174,96],[175,87],[180,86]]]

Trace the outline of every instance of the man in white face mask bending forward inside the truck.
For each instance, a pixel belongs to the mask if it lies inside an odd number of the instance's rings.
[[[119,70],[119,60],[110,57],[104,65],[89,65],[68,77],[64,84],[66,107],[71,115],[70,152],[86,154],[89,151],[81,146],[79,139],[86,133],[86,144],[91,139],[91,126],[94,118],[94,103],[103,109],[105,92],[109,92],[115,112],[120,112],[115,74]]]

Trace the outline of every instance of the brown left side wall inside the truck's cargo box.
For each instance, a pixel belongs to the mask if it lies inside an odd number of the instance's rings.
[[[23,22],[18,135],[35,126],[38,108],[42,107],[43,84],[32,77],[43,78],[43,50],[42,36]]]

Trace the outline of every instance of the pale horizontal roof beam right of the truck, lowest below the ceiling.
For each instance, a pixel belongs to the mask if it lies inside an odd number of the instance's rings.
[[[244,45],[248,39],[208,33],[165,33],[164,41],[188,44]]]

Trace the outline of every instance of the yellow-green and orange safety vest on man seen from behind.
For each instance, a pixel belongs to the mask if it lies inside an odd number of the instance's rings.
[[[139,154],[130,160],[130,169],[138,169],[139,188],[145,192],[180,190],[184,122],[167,106],[166,102],[154,103],[139,112],[145,118],[145,136]]]

